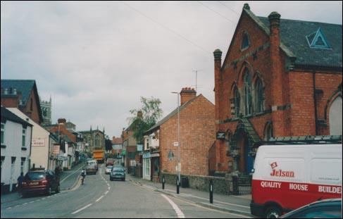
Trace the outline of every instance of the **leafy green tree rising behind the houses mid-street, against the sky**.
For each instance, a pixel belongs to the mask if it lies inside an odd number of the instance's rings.
[[[161,101],[153,96],[151,98],[141,96],[141,103],[142,108],[130,110],[132,117],[127,119],[129,120],[133,137],[139,144],[143,142],[144,132],[153,127],[163,113],[160,108]]]

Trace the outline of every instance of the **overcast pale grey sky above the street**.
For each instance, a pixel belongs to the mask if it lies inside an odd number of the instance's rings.
[[[120,136],[139,96],[194,87],[214,103],[213,54],[230,45],[244,3],[255,15],[342,24],[342,1],[1,1],[1,78],[36,80],[52,119]]]

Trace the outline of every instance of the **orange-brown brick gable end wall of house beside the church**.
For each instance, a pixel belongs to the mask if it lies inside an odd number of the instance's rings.
[[[208,175],[208,150],[215,137],[214,106],[199,95],[180,111],[182,174]],[[168,173],[176,173],[178,151],[173,142],[177,142],[177,113],[160,127],[161,170]],[[169,151],[174,154],[172,161]]]

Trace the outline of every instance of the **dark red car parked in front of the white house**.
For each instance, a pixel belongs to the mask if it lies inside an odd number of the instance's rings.
[[[52,170],[35,170],[25,174],[23,181],[22,195],[44,193],[51,195],[51,192],[60,192],[60,182]]]

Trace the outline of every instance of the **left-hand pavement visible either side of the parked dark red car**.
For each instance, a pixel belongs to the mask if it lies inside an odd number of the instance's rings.
[[[78,177],[80,176],[81,169],[85,165],[85,163],[79,163],[75,165],[70,170],[63,171],[60,175],[60,187],[61,191],[73,189],[78,182]],[[9,194],[1,194],[1,204],[15,201],[21,199],[20,194],[18,192],[12,192]]]

